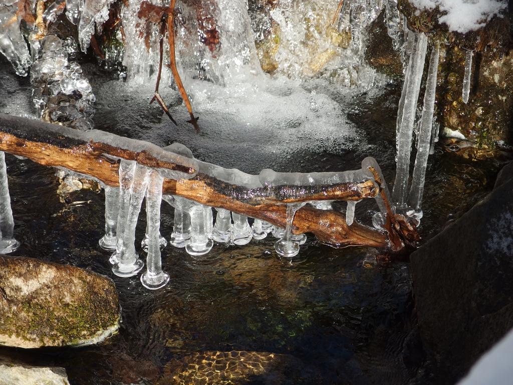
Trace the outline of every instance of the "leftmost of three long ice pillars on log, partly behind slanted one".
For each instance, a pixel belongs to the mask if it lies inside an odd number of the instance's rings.
[[[122,159],[120,162],[120,190],[116,225],[116,251],[110,257],[111,264],[116,264],[118,262],[119,253],[123,247],[123,235],[125,234],[128,210],[130,208],[130,188],[133,182],[135,165],[135,161]]]

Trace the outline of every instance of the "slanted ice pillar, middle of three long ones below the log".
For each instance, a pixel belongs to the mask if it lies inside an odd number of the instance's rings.
[[[139,259],[135,252],[135,227],[137,226],[137,219],[139,219],[141,204],[146,195],[147,185],[148,168],[136,164],[130,187],[130,203],[123,242],[121,248],[116,247],[117,263],[112,267],[112,272],[119,277],[132,277],[139,273],[144,266],[144,262]]]

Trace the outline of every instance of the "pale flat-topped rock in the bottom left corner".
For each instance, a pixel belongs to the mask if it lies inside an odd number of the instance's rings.
[[[63,368],[44,368],[0,361],[0,385],[69,385]]]

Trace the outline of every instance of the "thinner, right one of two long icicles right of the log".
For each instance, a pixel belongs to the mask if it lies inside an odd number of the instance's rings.
[[[419,125],[419,145],[417,149],[417,158],[415,159],[415,168],[413,168],[410,194],[408,196],[408,205],[418,213],[416,215],[418,219],[422,218],[420,205],[424,192],[427,158],[429,156],[429,147],[431,144],[430,139],[433,127],[433,113],[435,112],[439,56],[440,46],[439,44],[436,44],[431,51],[431,57],[429,59],[426,92],[424,94],[424,107],[422,108],[422,118]]]

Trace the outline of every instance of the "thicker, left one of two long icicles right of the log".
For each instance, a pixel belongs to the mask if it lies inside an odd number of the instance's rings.
[[[392,198],[403,207],[407,198],[408,177],[410,169],[411,139],[413,135],[413,123],[419,99],[420,84],[424,61],[426,59],[427,37],[424,33],[417,36],[408,64],[408,82],[404,98],[404,108],[399,128],[399,142],[397,150],[396,181],[393,185]]]

